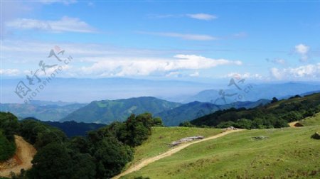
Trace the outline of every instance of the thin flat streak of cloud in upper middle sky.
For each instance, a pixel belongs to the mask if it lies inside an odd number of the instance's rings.
[[[208,35],[188,34],[188,33],[154,33],[154,32],[139,32],[155,36],[165,36],[173,38],[182,38],[185,40],[218,40],[218,38]]]

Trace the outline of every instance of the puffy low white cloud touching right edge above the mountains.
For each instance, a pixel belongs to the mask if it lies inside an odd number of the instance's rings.
[[[273,67],[270,72],[272,77],[275,77],[277,80],[297,78],[308,78],[314,80],[320,77],[320,63],[314,65],[303,65],[295,68],[288,67],[284,69]]]

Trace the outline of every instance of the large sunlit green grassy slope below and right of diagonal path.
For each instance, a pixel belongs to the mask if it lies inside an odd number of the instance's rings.
[[[196,143],[125,178],[320,177],[320,145],[311,139],[320,126],[240,131]],[[252,136],[269,136],[256,141]]]

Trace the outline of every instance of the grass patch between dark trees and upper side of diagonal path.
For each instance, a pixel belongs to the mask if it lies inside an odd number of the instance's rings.
[[[136,148],[134,161],[130,165],[137,163],[142,158],[150,158],[168,151],[168,143],[187,136],[213,136],[222,132],[222,129],[202,129],[188,127],[153,127],[152,135],[141,146]]]

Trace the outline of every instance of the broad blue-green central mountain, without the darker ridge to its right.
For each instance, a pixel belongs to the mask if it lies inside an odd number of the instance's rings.
[[[144,112],[157,114],[181,105],[155,97],[94,101],[68,114],[61,121],[110,124],[112,121],[124,121],[130,114],[142,114]]]

